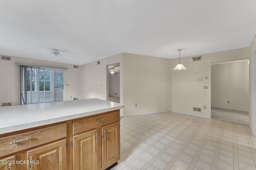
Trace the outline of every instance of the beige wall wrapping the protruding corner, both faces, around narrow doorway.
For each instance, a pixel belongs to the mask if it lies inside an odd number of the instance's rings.
[[[106,100],[106,66],[120,63],[121,115],[171,111],[170,59],[120,53],[82,65],[82,97]],[[137,104],[138,107],[135,107]]]

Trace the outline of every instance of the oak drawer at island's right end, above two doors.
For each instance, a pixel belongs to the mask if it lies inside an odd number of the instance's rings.
[[[84,118],[78,121],[73,121],[73,134],[84,132],[93,128],[99,128],[110,123],[120,120],[119,110],[103,115]]]

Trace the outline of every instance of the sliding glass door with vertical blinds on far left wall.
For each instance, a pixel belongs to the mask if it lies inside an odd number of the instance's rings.
[[[63,71],[20,66],[19,104],[63,101]]]

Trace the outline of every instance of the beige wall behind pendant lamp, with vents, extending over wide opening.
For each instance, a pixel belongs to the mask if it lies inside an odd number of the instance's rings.
[[[211,117],[211,63],[249,59],[249,47],[208,53],[202,55],[202,61],[192,61],[192,56],[182,57],[181,63],[187,68],[182,71],[172,70],[172,111]],[[178,64],[178,58],[172,59],[173,69]],[[208,76],[208,79],[197,81],[198,76]],[[208,86],[208,89],[204,89]],[[192,111],[192,107],[201,107],[202,113]],[[206,106],[206,109],[203,107]]]

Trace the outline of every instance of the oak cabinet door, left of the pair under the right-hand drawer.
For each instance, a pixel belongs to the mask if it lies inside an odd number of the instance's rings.
[[[73,170],[98,169],[98,130],[73,136]]]

